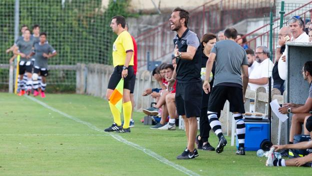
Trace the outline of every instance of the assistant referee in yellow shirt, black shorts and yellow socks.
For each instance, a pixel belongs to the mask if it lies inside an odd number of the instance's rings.
[[[131,118],[132,105],[130,101],[131,78],[133,76],[133,42],[129,32],[125,27],[123,16],[117,15],[111,18],[110,27],[118,36],[112,45],[112,63],[114,70],[110,75],[106,98],[109,97],[117,86],[120,78],[124,79],[122,95],[122,111],[124,117],[123,126],[121,126],[119,110],[109,102],[109,107],[114,119],[114,123],[104,131],[130,132],[129,122]]]

